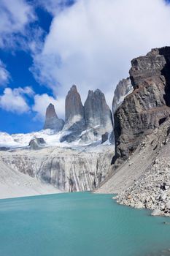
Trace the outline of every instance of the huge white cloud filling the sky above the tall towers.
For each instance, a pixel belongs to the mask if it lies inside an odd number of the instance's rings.
[[[170,44],[170,7],[163,0],[78,0],[53,18],[42,52],[34,56],[36,78],[65,97],[73,83],[83,100],[101,89],[109,105],[131,59]]]

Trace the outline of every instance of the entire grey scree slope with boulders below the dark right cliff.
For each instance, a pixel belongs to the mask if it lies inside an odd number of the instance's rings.
[[[170,216],[170,120],[139,144],[96,192],[116,193],[117,202]]]

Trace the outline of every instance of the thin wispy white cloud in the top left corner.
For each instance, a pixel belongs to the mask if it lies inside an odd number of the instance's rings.
[[[0,1],[0,48],[22,45],[26,26],[35,19],[34,9],[25,0]]]

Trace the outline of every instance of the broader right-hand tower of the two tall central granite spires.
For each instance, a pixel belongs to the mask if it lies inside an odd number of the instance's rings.
[[[84,108],[87,129],[99,127],[101,134],[112,131],[112,113],[104,94],[99,89],[88,91],[88,98],[85,101]]]

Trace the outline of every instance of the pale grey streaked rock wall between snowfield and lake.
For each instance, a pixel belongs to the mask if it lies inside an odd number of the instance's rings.
[[[60,191],[87,191],[109,176],[112,151],[112,146],[89,151],[57,147],[22,149],[0,151],[0,160],[11,170],[52,184]]]

